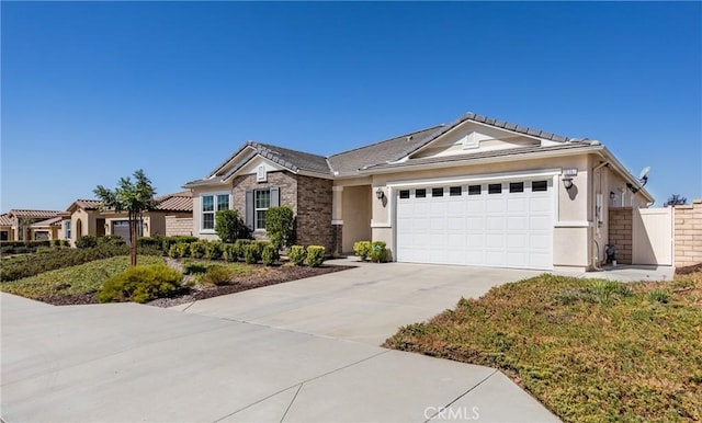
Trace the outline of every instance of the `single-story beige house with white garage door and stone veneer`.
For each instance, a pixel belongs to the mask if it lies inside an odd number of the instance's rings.
[[[183,187],[201,238],[225,208],[264,238],[265,210],[286,204],[298,243],[380,240],[400,262],[537,270],[593,268],[609,208],[654,201],[599,141],[473,113],[328,158],[249,141]]]

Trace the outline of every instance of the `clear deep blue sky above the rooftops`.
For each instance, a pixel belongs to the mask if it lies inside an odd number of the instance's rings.
[[[465,112],[702,198],[702,3],[2,2],[1,209],[159,193],[253,139],[330,155]]]

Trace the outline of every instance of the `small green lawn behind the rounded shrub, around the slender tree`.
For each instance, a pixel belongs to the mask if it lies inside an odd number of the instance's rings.
[[[138,263],[159,264],[163,263],[163,259],[155,255],[139,255]],[[128,256],[114,256],[45,272],[19,281],[3,282],[0,284],[0,290],[26,298],[90,294],[97,291],[107,278],[126,271],[128,267]]]

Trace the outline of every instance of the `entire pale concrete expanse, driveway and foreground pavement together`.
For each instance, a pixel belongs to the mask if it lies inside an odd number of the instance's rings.
[[[452,307],[460,296],[531,274],[501,272],[363,266],[197,301],[186,312],[133,304],[53,307],[2,294],[1,416],[8,423],[557,421],[495,369],[375,346],[397,325]]]

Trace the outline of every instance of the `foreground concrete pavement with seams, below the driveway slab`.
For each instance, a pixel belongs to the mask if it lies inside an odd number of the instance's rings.
[[[0,302],[8,423],[557,421],[487,367],[133,304]]]

